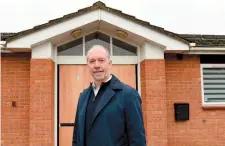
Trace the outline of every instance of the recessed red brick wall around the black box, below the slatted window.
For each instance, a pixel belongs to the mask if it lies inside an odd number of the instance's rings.
[[[225,110],[203,109],[199,57],[166,59],[169,146],[224,146]],[[175,122],[175,102],[190,103],[190,120]]]

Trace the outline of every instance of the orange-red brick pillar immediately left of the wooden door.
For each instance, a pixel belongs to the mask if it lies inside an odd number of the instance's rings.
[[[54,62],[32,59],[30,66],[30,130],[32,146],[54,146]]]

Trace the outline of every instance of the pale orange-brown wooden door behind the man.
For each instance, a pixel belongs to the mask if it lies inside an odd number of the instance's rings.
[[[135,65],[113,65],[111,73],[136,88]],[[59,146],[72,145],[78,98],[91,81],[86,65],[59,66]]]

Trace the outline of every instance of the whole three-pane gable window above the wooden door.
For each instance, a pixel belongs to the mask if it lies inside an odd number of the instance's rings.
[[[84,41],[83,41],[84,40]],[[102,45],[108,49],[111,56],[137,57],[137,47],[119,39],[96,31],[61,46],[58,46],[58,56],[86,56],[93,45]],[[134,60],[134,59],[133,59]]]

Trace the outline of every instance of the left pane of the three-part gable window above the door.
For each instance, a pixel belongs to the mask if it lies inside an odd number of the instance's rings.
[[[58,47],[59,56],[83,56],[83,39],[79,38]]]

